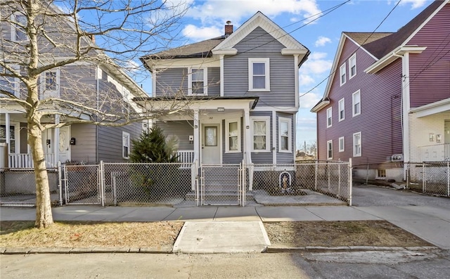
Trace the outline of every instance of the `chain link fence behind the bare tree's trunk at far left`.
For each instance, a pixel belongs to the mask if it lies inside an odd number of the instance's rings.
[[[59,172],[47,169],[50,198],[53,205],[60,204]],[[0,205],[11,207],[36,206],[36,179],[34,169],[0,169]]]

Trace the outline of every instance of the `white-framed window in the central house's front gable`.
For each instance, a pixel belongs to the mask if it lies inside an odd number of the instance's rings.
[[[269,58],[248,58],[248,91],[270,91]]]

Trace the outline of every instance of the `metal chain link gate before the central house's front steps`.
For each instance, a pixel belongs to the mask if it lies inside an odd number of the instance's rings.
[[[243,164],[202,164],[200,166],[200,205],[245,206]]]

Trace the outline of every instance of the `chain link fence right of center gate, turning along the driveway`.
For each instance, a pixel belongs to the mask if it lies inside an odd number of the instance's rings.
[[[254,190],[263,190],[267,195],[307,195],[306,190],[313,190],[351,205],[352,177],[348,162],[304,161],[254,166]]]

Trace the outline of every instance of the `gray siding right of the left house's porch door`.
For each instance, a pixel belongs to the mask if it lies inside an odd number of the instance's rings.
[[[96,158],[96,126],[94,124],[72,124],[70,137],[76,139],[70,145],[70,157],[76,162],[98,162]]]

